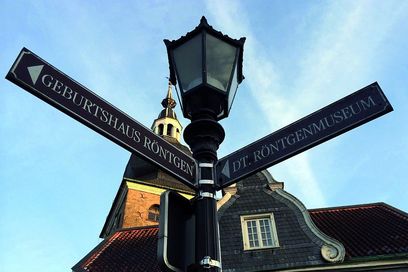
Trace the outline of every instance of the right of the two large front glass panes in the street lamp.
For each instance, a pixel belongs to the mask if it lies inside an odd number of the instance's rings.
[[[207,83],[222,91],[228,91],[236,48],[216,37],[206,35]]]

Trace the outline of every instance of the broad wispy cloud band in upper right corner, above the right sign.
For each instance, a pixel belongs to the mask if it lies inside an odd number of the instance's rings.
[[[370,75],[383,57],[377,50],[402,10],[392,2],[331,2],[303,41],[295,103],[320,106],[375,81]]]

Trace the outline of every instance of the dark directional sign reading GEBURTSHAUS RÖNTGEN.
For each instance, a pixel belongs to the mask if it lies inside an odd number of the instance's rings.
[[[23,48],[6,78],[195,188],[195,160]]]

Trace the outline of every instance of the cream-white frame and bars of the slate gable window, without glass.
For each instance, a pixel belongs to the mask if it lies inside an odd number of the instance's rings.
[[[261,229],[260,229],[260,220],[261,219],[269,219],[270,220],[270,228],[271,228],[271,238],[272,238],[272,245],[264,246],[262,244],[261,238]],[[259,246],[250,247],[249,243],[249,235],[248,235],[248,228],[247,222],[248,221],[256,221],[256,229],[257,229],[257,236]],[[264,249],[264,248],[276,248],[279,247],[278,241],[278,233],[276,231],[276,224],[273,213],[263,213],[263,214],[251,214],[251,215],[241,215],[241,229],[242,229],[242,240],[244,243],[244,250],[254,250],[254,249]]]

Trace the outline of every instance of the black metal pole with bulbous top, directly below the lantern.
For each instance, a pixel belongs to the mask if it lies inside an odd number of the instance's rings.
[[[195,271],[221,271],[217,201],[213,166],[225,133],[212,111],[203,109],[192,116],[184,130],[184,139],[199,164],[198,191],[195,201],[196,257]]]

